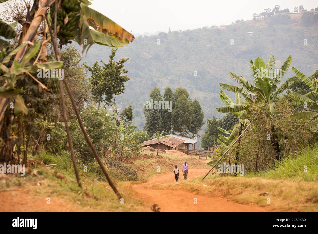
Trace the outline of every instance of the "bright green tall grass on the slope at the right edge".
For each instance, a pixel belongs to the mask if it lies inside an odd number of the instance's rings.
[[[318,181],[318,145],[303,148],[290,154],[272,169],[249,173],[247,177],[261,176],[266,179],[285,179],[293,181]]]

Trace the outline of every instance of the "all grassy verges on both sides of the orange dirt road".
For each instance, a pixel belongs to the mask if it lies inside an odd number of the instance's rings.
[[[282,160],[276,168],[257,174],[231,177],[215,173],[209,174],[204,181],[201,181],[202,176],[190,180],[190,183],[152,184],[148,187],[184,189],[201,195],[224,197],[242,204],[257,204],[269,211],[318,211],[318,184],[313,182],[317,178],[317,152],[318,146],[303,149]],[[0,191],[31,188],[37,196],[64,199],[70,204],[76,204],[80,211],[149,211],[149,207],[143,204],[142,199],[138,199],[138,194],[132,188],[135,181],[146,181],[156,174],[170,172],[175,164],[180,167],[184,161],[191,168],[211,168],[192,156],[162,152],[160,156],[151,156],[150,151],[144,153],[148,156],[126,163],[111,163],[113,166],[107,165],[105,159],[102,159],[115,186],[124,197],[125,205],[119,202],[95,161],[77,160],[83,186],[83,190],[80,189],[68,153],[42,153],[35,157],[30,155],[28,166],[31,170],[23,177],[10,174],[2,178]],[[56,165],[46,166],[50,164]],[[86,172],[84,166],[87,167]],[[157,171],[158,166],[160,172]],[[307,166],[307,172],[304,172],[304,166]],[[134,172],[137,176],[130,180],[129,176]],[[264,192],[269,194],[259,196]],[[268,198],[271,199],[270,204],[267,203]]]

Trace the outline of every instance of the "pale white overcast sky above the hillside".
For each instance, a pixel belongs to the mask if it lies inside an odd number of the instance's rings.
[[[112,19],[133,33],[167,32],[195,29],[203,26],[231,24],[237,19],[252,19],[253,13],[259,14],[264,8],[280,9],[299,4],[308,11],[318,7],[316,0],[94,0],[91,7]],[[0,4],[0,12],[3,11]]]

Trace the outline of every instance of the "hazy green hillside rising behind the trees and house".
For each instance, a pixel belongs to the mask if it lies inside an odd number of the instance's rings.
[[[133,43],[119,48],[116,54],[116,60],[129,58],[125,68],[131,78],[126,82],[125,93],[116,98],[118,108],[122,110],[132,104],[133,124],[142,129],[145,122],[143,104],[148,100],[150,90],[157,86],[163,94],[167,86],[172,89],[182,86],[191,98],[199,100],[205,120],[213,115],[222,117],[215,110],[221,105],[218,83],[232,83],[229,71],[251,80],[249,60],[267,59],[270,53],[275,55],[277,67],[291,54],[292,66],[310,76],[318,68],[318,25],[302,26],[300,15],[301,12],[291,14],[286,25],[268,17],[227,25],[224,29],[204,27],[139,36]],[[253,36],[247,32],[253,32]],[[231,39],[234,45],[230,44]],[[307,45],[304,45],[304,39],[307,39]],[[107,60],[110,51],[110,47],[94,45],[89,49],[86,61],[92,65],[95,61]],[[284,80],[291,76],[289,70]]]

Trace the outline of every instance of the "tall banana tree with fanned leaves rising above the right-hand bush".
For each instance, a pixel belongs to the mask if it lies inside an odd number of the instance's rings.
[[[269,110],[273,112],[275,108],[273,98],[283,93],[290,85],[299,80],[297,76],[293,76],[281,83],[291,62],[292,56],[289,55],[280,69],[276,69],[276,61],[273,54],[270,55],[267,64],[265,64],[264,60],[260,57],[255,59],[254,62],[253,60],[250,60],[250,68],[253,71],[252,77],[254,78],[253,83],[247,81],[243,76],[229,72],[229,76],[240,86],[220,83],[220,87],[241,94],[245,98],[245,103],[231,103],[227,106],[217,108],[218,112],[234,113],[247,110],[248,104],[252,103],[263,103],[263,105],[268,105]],[[277,160],[280,160],[280,147],[278,136],[275,134],[274,124],[271,124],[271,131],[273,134],[271,140],[276,151],[276,158]]]

